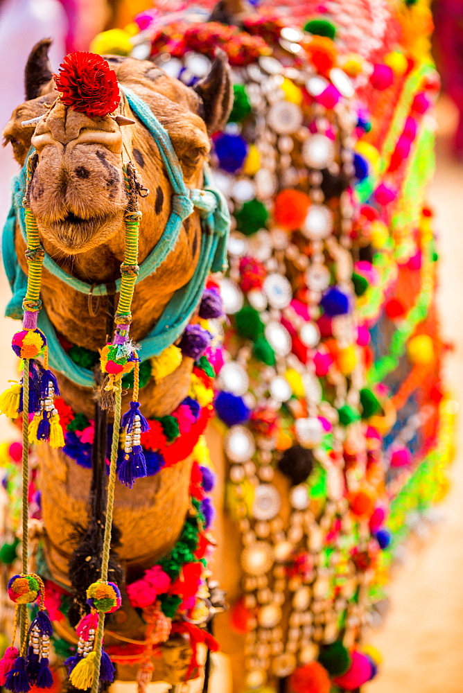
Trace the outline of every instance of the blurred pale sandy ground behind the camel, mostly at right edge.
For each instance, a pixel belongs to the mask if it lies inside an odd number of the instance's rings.
[[[455,163],[449,155],[448,139],[454,122],[453,109],[442,103],[437,175],[430,201],[439,231],[442,330],[455,346],[446,364],[446,375],[458,400],[463,396],[463,164]],[[4,211],[0,212],[3,217]],[[1,271],[1,314],[9,297],[8,283]],[[16,328],[16,322],[0,318],[0,392],[8,378],[15,376],[17,360],[9,344]],[[0,441],[12,437],[16,437],[16,432],[0,416]],[[460,419],[460,450],[462,442]],[[409,543],[404,563],[395,570],[390,612],[381,629],[369,638],[383,656],[381,675],[365,687],[365,693],[463,693],[463,455],[457,455],[451,475],[453,485],[441,509],[442,522],[426,540]],[[225,665],[223,661],[221,664]],[[135,687],[118,684],[116,689],[132,693]],[[150,689],[152,693],[164,693],[166,687]],[[214,678],[211,691],[227,693],[225,681]]]

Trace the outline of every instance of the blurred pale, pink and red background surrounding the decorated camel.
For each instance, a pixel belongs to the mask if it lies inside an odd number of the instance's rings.
[[[192,3],[184,3],[188,6]],[[0,125],[24,100],[23,72],[31,46],[53,37],[51,62],[58,69],[65,53],[87,50],[102,30],[125,26],[151,3],[142,0],[0,0]],[[463,392],[463,0],[439,0],[434,55],[443,91],[437,106],[437,170],[430,203],[439,236],[438,303],[444,339],[453,344],[446,380],[457,410]],[[355,18],[353,18],[354,21]],[[0,222],[10,203],[10,178],[17,172],[10,147],[0,150]],[[10,290],[0,270],[0,314]],[[15,322],[0,318],[0,392],[15,368],[10,337]],[[367,693],[462,693],[463,691],[463,423],[457,419],[457,455],[451,491],[428,524],[405,544],[394,568],[390,608],[371,642],[383,656],[381,676]],[[0,418],[0,439],[11,438]]]

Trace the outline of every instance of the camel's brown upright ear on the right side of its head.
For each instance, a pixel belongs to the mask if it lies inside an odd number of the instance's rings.
[[[202,99],[200,115],[206,123],[207,132],[212,134],[221,130],[227,123],[233,105],[231,70],[224,51],[216,51],[209,74],[197,82],[193,89]]]

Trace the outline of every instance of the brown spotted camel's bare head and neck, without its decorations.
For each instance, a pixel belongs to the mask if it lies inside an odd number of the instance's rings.
[[[148,130],[133,116],[127,98],[122,98],[113,116],[96,119],[74,111],[58,99],[47,59],[49,45],[50,41],[44,40],[30,53],[26,102],[13,112],[4,137],[12,144],[21,166],[31,145],[37,152],[28,194],[45,252],[72,277],[94,286],[103,283],[110,287],[120,277],[123,258],[127,206],[123,162],[133,161],[146,186],[145,193],[148,188],[150,191],[139,202],[143,215],[140,265],[157,245],[171,214],[171,182],[159,150]],[[209,75],[195,90],[168,77],[151,62],[122,60],[118,56],[108,56],[107,60],[119,84],[143,99],[166,128],[186,186],[202,188],[209,135],[225,123],[231,107],[229,68],[223,53],[218,53]],[[134,340],[146,335],[175,292],[193,277],[202,233],[200,214],[195,210],[182,223],[177,244],[166,261],[137,285],[132,304]],[[15,249],[26,270],[25,245],[19,229],[15,233]],[[78,347],[98,352],[107,335],[111,335],[114,290],[113,296],[107,293],[96,303],[93,296],[64,287],[58,277],[44,270],[44,309],[56,332]],[[139,398],[145,416],[166,416],[184,400],[193,361],[184,356],[164,379],[151,379],[141,387]],[[61,373],[57,376],[62,398],[76,414],[89,419],[103,416],[106,421],[104,414],[95,414],[91,389],[76,385]],[[130,393],[123,400],[123,410],[128,409],[129,401]],[[64,588],[71,588],[68,564],[75,547],[71,535],[76,527],[85,528],[89,522],[91,471],[79,468],[61,450],[48,446],[40,446],[37,455],[49,577]],[[114,523],[121,534],[118,561],[124,566],[127,581],[141,577],[177,541],[189,511],[192,464],[189,455],[155,477],[138,480],[136,489],[118,484]],[[119,637],[144,640],[145,624],[126,597],[112,631],[117,631]],[[64,635],[75,642],[69,626]],[[105,642],[110,646],[110,635]],[[123,673],[119,675],[124,677]],[[129,678],[134,678],[134,674]]]

